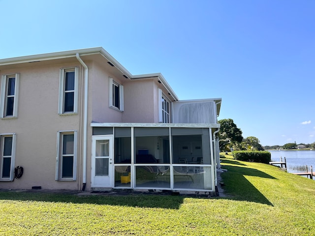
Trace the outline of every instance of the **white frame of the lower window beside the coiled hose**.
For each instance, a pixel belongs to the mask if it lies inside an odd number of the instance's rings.
[[[4,151],[4,138],[5,137],[12,137],[12,149],[10,156],[3,156]],[[15,165],[15,149],[16,149],[16,134],[0,134],[0,144],[1,144],[1,153],[0,153],[0,181],[13,181],[14,180],[14,165]],[[10,165],[10,177],[2,177],[2,170],[3,170],[3,158],[11,158],[11,165]]]

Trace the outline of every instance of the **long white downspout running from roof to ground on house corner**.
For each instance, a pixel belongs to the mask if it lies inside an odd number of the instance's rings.
[[[85,68],[84,75],[84,118],[83,118],[83,173],[82,173],[82,191],[85,190],[87,184],[87,140],[88,140],[88,86],[89,86],[89,68],[76,53],[76,58]]]

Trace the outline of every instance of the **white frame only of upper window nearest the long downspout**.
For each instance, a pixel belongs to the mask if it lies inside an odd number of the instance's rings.
[[[64,94],[65,92],[65,73],[74,71],[74,100],[73,100],[73,111],[64,112]],[[58,104],[58,114],[59,115],[69,115],[78,113],[78,81],[79,81],[79,67],[72,68],[62,68],[60,69],[60,82],[59,82],[59,104]]]

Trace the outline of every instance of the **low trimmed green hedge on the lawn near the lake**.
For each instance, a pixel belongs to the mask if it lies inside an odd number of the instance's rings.
[[[269,164],[271,153],[269,151],[233,151],[232,155],[235,160],[260,162]]]

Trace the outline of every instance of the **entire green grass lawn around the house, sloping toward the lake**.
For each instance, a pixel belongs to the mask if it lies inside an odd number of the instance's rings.
[[[0,235],[315,235],[315,180],[225,156],[224,198],[0,191]]]

